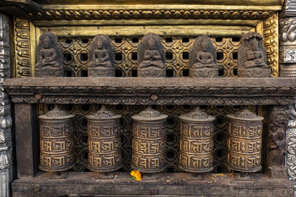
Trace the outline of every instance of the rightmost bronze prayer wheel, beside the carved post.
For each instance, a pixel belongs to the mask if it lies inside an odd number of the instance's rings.
[[[241,172],[261,169],[263,117],[244,107],[227,116],[226,165]]]

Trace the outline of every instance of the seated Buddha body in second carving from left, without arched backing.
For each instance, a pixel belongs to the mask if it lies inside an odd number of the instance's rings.
[[[101,40],[98,40],[97,42],[97,49],[93,52],[93,60],[90,63],[90,66],[112,67],[109,53],[103,48],[103,43]]]

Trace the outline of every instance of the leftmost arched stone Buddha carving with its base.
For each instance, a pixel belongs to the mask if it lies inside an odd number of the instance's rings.
[[[58,42],[58,37],[50,32],[43,33],[39,37],[37,45],[37,77],[62,77],[63,50]]]

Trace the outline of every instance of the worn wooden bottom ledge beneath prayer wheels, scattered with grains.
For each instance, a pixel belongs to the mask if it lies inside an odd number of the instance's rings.
[[[159,173],[158,177],[130,180],[128,172],[117,177],[104,177],[97,172],[70,172],[57,178],[50,172],[39,172],[35,178],[20,178],[12,183],[13,196],[244,196],[291,197],[293,184],[286,179],[269,179],[264,174],[251,173],[249,181],[238,181],[232,174]]]

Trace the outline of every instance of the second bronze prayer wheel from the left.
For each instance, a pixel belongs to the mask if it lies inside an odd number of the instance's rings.
[[[120,115],[105,105],[87,118],[88,164],[97,172],[108,172],[122,167]]]

